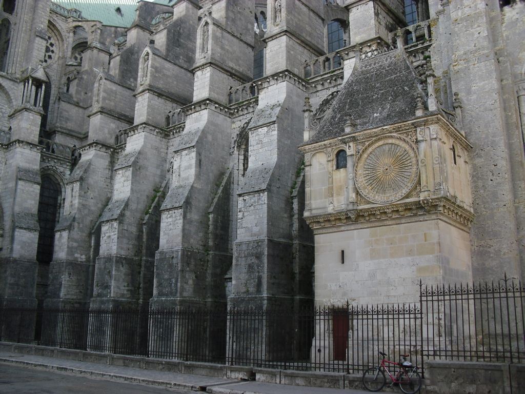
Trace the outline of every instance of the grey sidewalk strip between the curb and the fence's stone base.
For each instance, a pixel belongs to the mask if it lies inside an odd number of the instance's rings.
[[[351,389],[341,390],[319,387],[277,385],[275,383],[178,374],[176,372],[121,367],[98,364],[96,362],[75,361],[45,356],[22,355],[11,352],[0,352],[0,362],[33,368],[45,368],[73,374],[81,374],[92,378],[129,381],[183,390],[207,391],[211,394],[341,394],[341,391],[344,391],[345,394],[362,394],[367,392]]]

